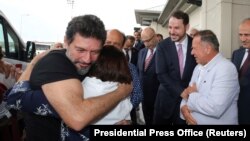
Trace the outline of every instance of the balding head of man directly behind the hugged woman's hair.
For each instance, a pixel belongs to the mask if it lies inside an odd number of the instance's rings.
[[[107,31],[107,38],[105,45],[113,45],[122,49],[125,42],[125,35],[118,29],[111,29]]]

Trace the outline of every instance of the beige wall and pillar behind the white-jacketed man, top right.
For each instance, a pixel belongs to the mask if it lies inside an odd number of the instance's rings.
[[[250,17],[250,0],[203,0],[201,29],[211,29],[220,41],[220,52],[231,58],[239,48],[238,25]]]

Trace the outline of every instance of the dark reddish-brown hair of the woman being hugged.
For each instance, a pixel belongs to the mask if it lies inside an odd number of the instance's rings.
[[[103,47],[98,59],[90,68],[89,76],[102,81],[119,83],[130,83],[132,81],[124,53],[112,45]]]

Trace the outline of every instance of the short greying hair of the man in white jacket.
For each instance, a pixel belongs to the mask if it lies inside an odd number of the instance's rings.
[[[194,37],[200,36],[202,42],[210,44],[216,51],[219,51],[219,41],[216,35],[211,30],[201,30]]]

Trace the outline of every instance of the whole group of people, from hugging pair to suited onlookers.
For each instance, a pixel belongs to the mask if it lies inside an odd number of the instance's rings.
[[[231,61],[212,30],[189,28],[183,11],[170,16],[165,39],[152,27],[125,35],[95,15],[77,16],[55,44],[62,49],[15,75],[7,107],[22,111],[27,141],[88,139],[93,124],[250,124],[250,18]]]

